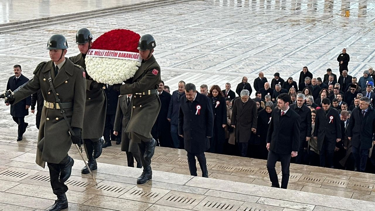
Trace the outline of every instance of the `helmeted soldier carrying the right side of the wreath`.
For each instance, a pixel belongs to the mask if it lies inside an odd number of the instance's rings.
[[[142,58],[141,66],[132,78],[125,81],[125,84],[113,86],[115,90],[120,90],[121,95],[133,94],[132,114],[125,133],[130,133],[130,139],[138,143],[139,154],[141,154],[143,172],[137,179],[137,184],[144,184],[152,178],[150,164],[156,141],[151,136],[151,128],[161,105],[156,92],[161,81],[160,66],[152,55],[155,46],[153,36],[143,35],[138,43],[139,54]]]

